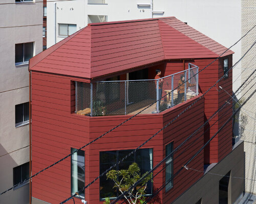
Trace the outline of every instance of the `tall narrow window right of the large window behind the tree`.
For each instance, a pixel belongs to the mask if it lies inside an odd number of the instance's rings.
[[[165,157],[173,151],[173,142],[165,146]],[[173,156],[165,160],[165,192],[173,188]]]

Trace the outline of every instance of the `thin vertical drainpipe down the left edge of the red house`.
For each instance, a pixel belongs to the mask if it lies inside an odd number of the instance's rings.
[[[31,168],[31,71],[29,71],[29,177],[32,175]],[[32,183],[29,179],[29,203],[32,202]]]

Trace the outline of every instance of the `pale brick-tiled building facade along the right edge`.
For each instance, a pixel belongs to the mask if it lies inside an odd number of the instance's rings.
[[[242,35],[246,34],[255,25],[256,19],[256,1],[253,0],[242,0]],[[250,48],[256,39],[256,28],[252,29],[248,35],[242,40],[242,55]],[[255,70],[256,66],[256,45],[248,52],[248,54],[242,60],[242,81],[249,77],[250,73]],[[253,79],[254,77],[254,79]],[[256,82],[255,73],[250,79],[251,86]],[[246,93],[251,86],[247,86],[242,93]],[[244,96],[246,99],[256,86],[252,87]],[[255,180],[256,178],[256,167],[255,167],[255,156],[256,156],[256,95],[253,95],[245,108],[240,112],[240,134],[244,140],[245,150],[245,177]],[[256,182],[246,180],[245,191],[256,194]]]

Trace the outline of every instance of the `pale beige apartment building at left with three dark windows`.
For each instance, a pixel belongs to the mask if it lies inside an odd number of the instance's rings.
[[[0,192],[29,177],[28,61],[41,50],[42,2],[1,0]],[[29,184],[1,195],[0,203],[29,203]]]

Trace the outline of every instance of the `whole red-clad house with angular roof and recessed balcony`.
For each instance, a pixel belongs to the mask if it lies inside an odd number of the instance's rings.
[[[116,167],[127,168],[137,162],[142,173],[152,169],[230,98],[218,90],[221,86],[232,94],[232,70],[227,69],[232,66],[233,52],[222,55],[226,49],[175,17],[167,17],[89,24],[33,57],[29,64],[32,174],[140,114],[35,176],[32,203],[60,203],[89,184],[225,74],[218,86]],[[161,75],[155,79],[157,69]],[[176,88],[183,77],[189,83],[183,85],[182,93]],[[159,173],[148,184],[147,196],[196,154],[231,114],[232,103],[228,103],[166,161],[170,165],[163,164],[154,171],[153,175]],[[189,168],[198,171],[184,168],[166,183],[154,202],[233,203],[243,192],[244,181],[232,180],[232,176],[243,176],[243,158],[243,143],[232,147],[230,121],[189,163]],[[232,176],[223,179],[203,171]],[[74,201],[81,203],[79,199],[84,198],[90,204],[103,203],[105,197],[118,195],[112,185],[103,176]]]

